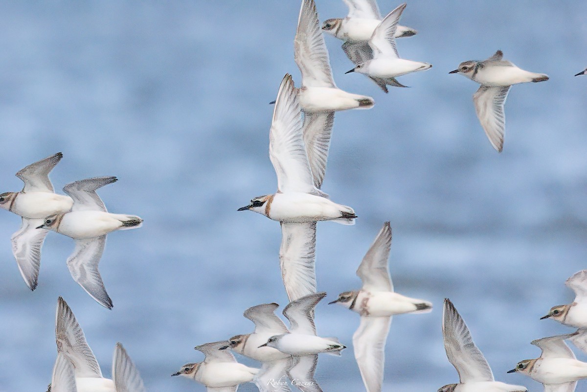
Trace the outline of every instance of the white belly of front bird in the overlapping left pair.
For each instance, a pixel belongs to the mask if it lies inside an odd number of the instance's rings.
[[[126,215],[123,215],[126,217]],[[63,215],[58,232],[75,239],[96,238],[122,227],[119,214],[73,211]]]

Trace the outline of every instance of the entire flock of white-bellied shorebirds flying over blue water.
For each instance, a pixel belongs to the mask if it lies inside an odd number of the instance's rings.
[[[288,392],[295,386],[303,392],[319,392],[315,379],[321,353],[340,355],[346,346],[336,337],[316,332],[315,307],[326,297],[319,292],[315,273],[316,223],[334,221],[355,224],[355,211],[331,201],[322,189],[333,129],[338,110],[370,109],[373,99],[338,89],[330,70],[323,32],[344,41],[342,48],[355,67],[384,92],[387,86],[405,87],[396,77],[430,69],[429,63],[399,57],[395,39],[416,34],[398,24],[406,4],[382,18],[374,0],[344,0],[346,18],[327,19],[321,25],[314,0],[302,0],[295,36],[295,61],[301,71],[301,87],[286,74],[279,86],[269,131],[269,157],[277,175],[275,194],[255,197],[239,211],[251,210],[281,224],[279,250],[282,278],[289,304],[283,315],[289,327],[275,314],[279,305],[265,303],[245,310],[255,329],[220,342],[195,347],[205,354],[201,363],[187,363],[172,376],[185,376],[204,384],[210,392],[235,392],[241,383],[254,382],[263,392]],[[461,63],[450,73],[480,83],[473,100],[481,126],[492,146],[501,151],[504,142],[504,103],[516,83],[542,82],[548,76],[532,73],[502,59],[498,50],[484,61]],[[578,73],[582,75],[587,70]],[[62,158],[57,153],[28,165],[16,175],[25,186],[21,192],[0,194],[0,207],[22,217],[21,229],[12,236],[12,251],[26,285],[37,286],[41,248],[49,231],[75,240],[67,260],[73,279],[100,305],[112,308],[98,271],[106,235],[139,228],[143,219],[112,214],[96,190],[116,181],[97,177],[65,185],[67,195],[53,191],[49,172]],[[377,234],[357,269],[359,290],[340,293],[338,303],[359,313],[360,324],[353,335],[357,366],[367,392],[380,392],[384,376],[384,347],[394,315],[427,313],[432,304],[394,292],[389,273],[392,228],[389,222]],[[569,305],[552,307],[542,319],[551,318],[576,332],[534,340],[542,350],[537,359],[520,361],[508,373],[519,372],[544,384],[546,392],[572,392],[576,381],[587,378],[587,363],[575,358],[566,345],[570,340],[587,352],[587,270],[566,281],[576,298]],[[439,392],[522,392],[524,386],[495,381],[491,368],[475,346],[463,318],[449,299],[444,300],[442,331],[448,360],[459,382]],[[100,366],[85,335],[65,300],[56,311],[58,356],[53,369],[52,392],[143,392],[143,381],[122,344],[114,349],[112,379],[102,376]],[[238,363],[232,352],[257,360],[260,368]]]

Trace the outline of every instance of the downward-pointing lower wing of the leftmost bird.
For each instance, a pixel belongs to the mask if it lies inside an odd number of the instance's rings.
[[[44,219],[27,219],[22,218],[21,229],[12,234],[12,254],[21,271],[22,278],[25,279],[29,289],[34,290],[39,278],[39,268],[41,267],[41,247],[45,236],[49,232],[47,229],[38,229]]]

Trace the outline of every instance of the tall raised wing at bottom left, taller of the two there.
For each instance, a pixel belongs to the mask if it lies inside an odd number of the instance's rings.
[[[102,377],[100,365],[87,345],[82,328],[68,304],[59,297],[55,314],[57,352],[63,353],[73,364],[76,377]]]

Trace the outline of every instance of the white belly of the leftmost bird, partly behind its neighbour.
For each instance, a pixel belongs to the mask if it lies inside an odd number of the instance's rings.
[[[73,200],[53,192],[26,192],[16,196],[12,212],[21,217],[42,219],[70,211]]]

